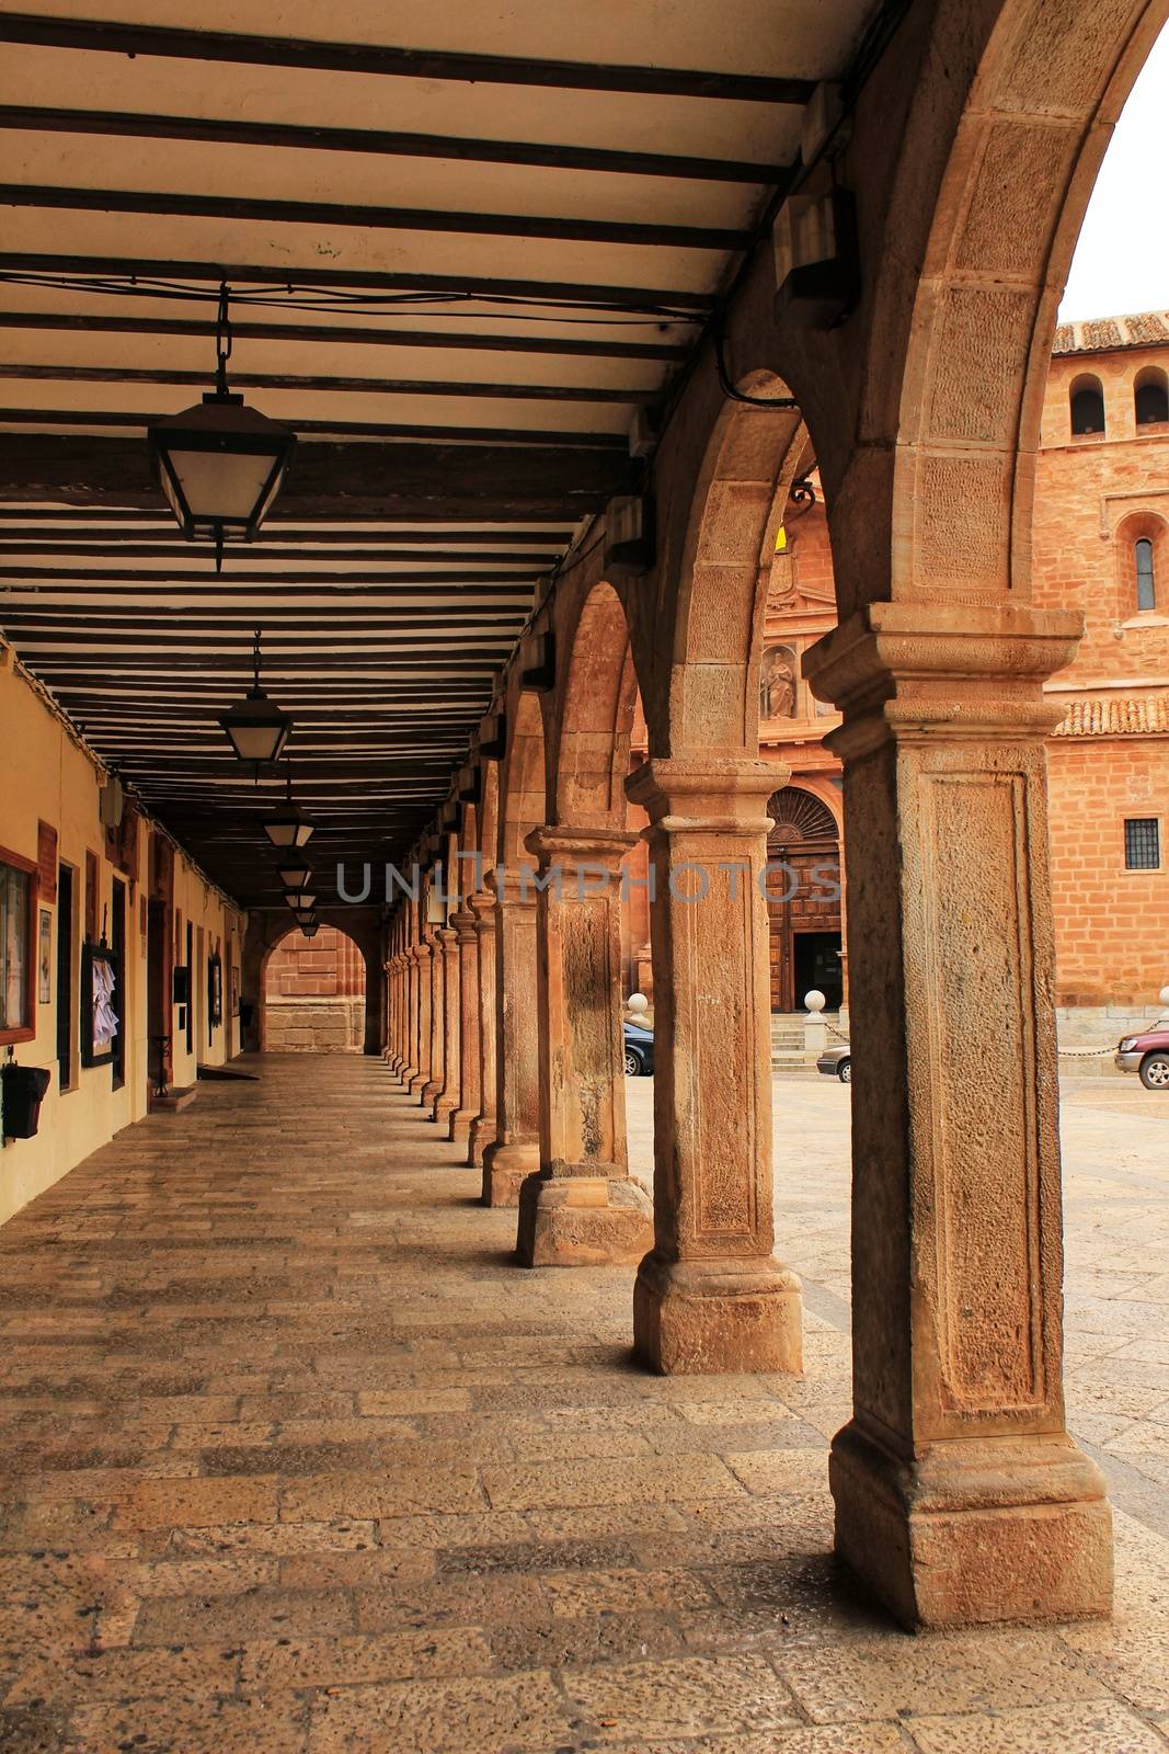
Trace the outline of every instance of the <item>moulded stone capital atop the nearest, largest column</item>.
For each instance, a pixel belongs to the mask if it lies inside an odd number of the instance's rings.
[[[1041,684],[1081,635],[1069,609],[866,603],[804,652],[803,672],[845,714],[824,738],[840,756],[925,737],[1041,742],[1064,716]]]

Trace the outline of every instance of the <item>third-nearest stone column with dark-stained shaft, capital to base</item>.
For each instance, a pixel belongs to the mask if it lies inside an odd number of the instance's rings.
[[[538,828],[540,1170],[519,1193],[524,1266],[640,1261],[654,1203],[626,1158],[620,861],[638,835]]]

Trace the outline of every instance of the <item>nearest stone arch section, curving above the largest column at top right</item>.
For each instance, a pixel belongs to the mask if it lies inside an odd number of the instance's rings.
[[[1111,128],[1165,11],[1165,0],[936,9],[925,47],[934,77],[913,105],[904,149],[929,130],[945,160],[890,400],[890,575],[885,589],[873,581],[871,596],[1031,600],[1031,505],[1059,298]],[[948,53],[966,86],[943,132],[932,105]],[[901,191],[922,198],[911,177]]]

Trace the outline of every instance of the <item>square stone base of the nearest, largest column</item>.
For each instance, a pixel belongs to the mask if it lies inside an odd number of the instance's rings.
[[[1104,1477],[1066,1433],[950,1438],[908,1465],[832,1440],[836,1552],[903,1626],[1066,1621],[1113,1600]]]

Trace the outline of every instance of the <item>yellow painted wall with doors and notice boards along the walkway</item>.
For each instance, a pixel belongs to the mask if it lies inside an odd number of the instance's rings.
[[[98,931],[110,903],[114,877],[126,884],[126,963],[124,993],[126,1016],[126,1082],[114,1089],[114,1066],[81,1066],[75,1054],[74,1087],[61,1093],[56,1063],[56,903],[39,898],[42,909],[53,914],[53,979],[49,1003],[37,1003],[37,1035],[16,1044],[19,1065],[46,1066],[53,1073],[49,1093],[40,1107],[37,1138],[7,1140],[0,1147],[0,1223],[19,1212],[46,1187],[107,1144],[114,1133],[140,1121],[147,1107],[147,1038],[145,1038],[145,933],[140,930],[140,898],[149,882],[149,851],[152,826],[142,819],[138,831],[138,870],[119,872],[103,856],[105,831],[98,819],[98,789],[103,775],[81,749],[54,712],[16,670],[12,654],[0,647],[0,847],[37,859],[37,824],[49,823],[58,831],[58,861],[74,866],[75,933],[74,933],[74,988],[79,984],[81,940],[86,919],[86,852],[100,859]],[[230,1016],[228,995],[228,933],[233,937],[231,958],[240,965],[240,919],[228,909],[216,889],[203,882],[196,870],[175,852],[175,909],[186,921],[203,928],[205,956],[216,940],[224,963],[223,1024],[209,1040],[207,1030],[207,968],[195,970],[196,1038],[186,1051],[186,1037],[172,1028],[175,1044],[174,1082],[195,1084],[196,1065],[223,1065],[238,1052],[238,1017]],[[33,958],[37,956],[33,942]],[[186,956],[186,945],[184,945]],[[179,961],[184,959],[177,958]],[[7,1049],[0,1047],[0,1056]],[[168,1116],[175,1131],[182,1130],[182,1114]]]

